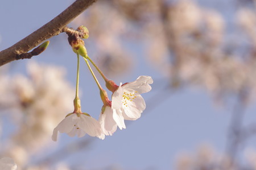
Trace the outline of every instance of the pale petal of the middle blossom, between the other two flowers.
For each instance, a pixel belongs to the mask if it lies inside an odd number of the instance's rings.
[[[117,130],[117,123],[113,119],[113,110],[109,106],[106,106],[104,113],[100,115],[99,122],[105,135],[112,136]]]

